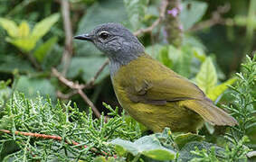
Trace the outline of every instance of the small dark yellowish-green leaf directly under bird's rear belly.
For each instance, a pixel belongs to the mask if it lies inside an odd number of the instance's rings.
[[[175,143],[177,144],[178,148],[183,148],[186,143],[191,141],[202,141],[204,140],[204,136],[200,136],[193,133],[185,133],[185,134],[178,134],[174,138]]]

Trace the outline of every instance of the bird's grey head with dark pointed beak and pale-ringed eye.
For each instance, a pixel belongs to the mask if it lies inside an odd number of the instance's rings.
[[[143,45],[119,23],[103,23],[89,33],[74,37],[89,40],[109,57],[110,66],[121,66],[144,54]]]

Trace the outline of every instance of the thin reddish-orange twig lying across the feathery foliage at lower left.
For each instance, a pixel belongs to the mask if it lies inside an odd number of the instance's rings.
[[[0,130],[3,133],[8,133],[11,134],[12,131],[10,130]],[[24,132],[24,131],[14,131],[15,135],[23,135],[23,136],[30,136],[30,137],[34,137],[34,138],[39,138],[39,139],[54,139],[54,140],[59,140],[62,141],[62,137],[60,136],[54,136],[54,135],[47,135],[47,134],[40,134],[40,133],[32,133],[32,132]],[[71,145],[80,145],[80,143],[71,140],[71,143],[68,140],[65,140],[66,143],[71,144]],[[83,145],[83,148],[88,148],[88,146]],[[93,152],[97,152],[97,148],[90,148]],[[101,155],[104,156],[109,156],[109,154],[105,151],[101,151]]]

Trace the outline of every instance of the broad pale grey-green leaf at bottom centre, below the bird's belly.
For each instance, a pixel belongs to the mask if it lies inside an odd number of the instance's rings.
[[[123,148],[117,150],[121,150],[122,154],[124,154],[124,150],[126,150],[134,156],[142,154],[156,160],[171,160],[175,158],[175,151],[162,147],[160,141],[153,136],[144,136],[137,139],[135,142],[114,139],[111,141],[111,144]]]

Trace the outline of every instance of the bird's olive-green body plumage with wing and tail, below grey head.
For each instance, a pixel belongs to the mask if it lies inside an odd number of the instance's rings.
[[[113,85],[119,103],[150,130],[195,131],[203,118],[216,125],[235,123],[196,85],[146,54],[120,67]]]

